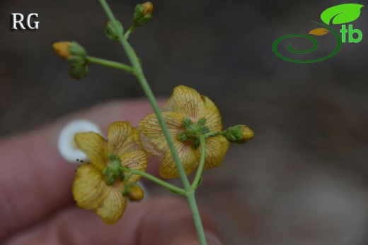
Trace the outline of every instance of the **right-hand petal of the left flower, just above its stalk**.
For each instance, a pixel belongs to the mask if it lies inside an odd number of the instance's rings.
[[[136,169],[139,171],[146,171],[148,157],[147,153],[143,150],[134,150],[130,153],[120,156],[123,167],[129,167],[130,169]],[[140,175],[134,174],[130,178],[130,182],[135,182],[140,179]]]

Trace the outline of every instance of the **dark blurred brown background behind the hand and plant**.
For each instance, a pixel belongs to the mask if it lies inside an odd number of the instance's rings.
[[[278,37],[307,34],[319,27],[309,20],[347,2],[155,1],[154,19],[130,37],[156,95],[189,85],[214,100],[225,127],[255,131],[231,145],[198,191],[226,244],[368,244],[368,8],[352,22],[362,41],[343,43],[331,59],[295,64],[272,52]],[[110,1],[125,28],[138,3]],[[11,31],[11,13],[38,13],[39,30]],[[5,0],[0,18],[0,136],[143,96],[133,76],[111,68],[91,65],[87,78],[71,80],[52,51],[53,42],[76,40],[88,54],[127,62],[105,38],[98,1]],[[312,57],[335,47],[317,38]]]

